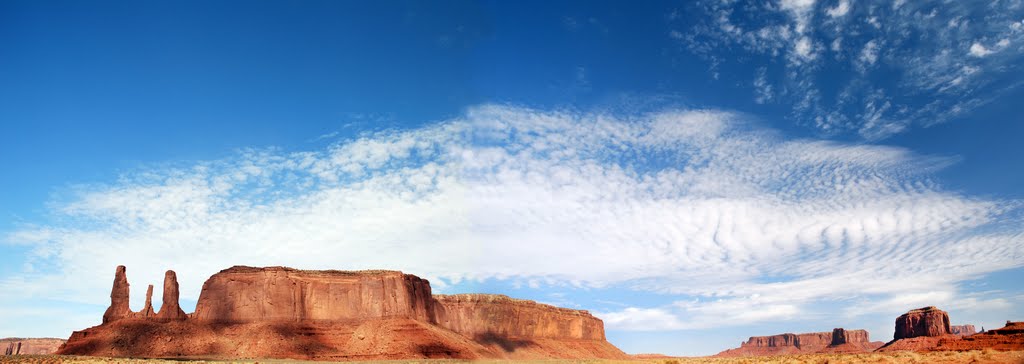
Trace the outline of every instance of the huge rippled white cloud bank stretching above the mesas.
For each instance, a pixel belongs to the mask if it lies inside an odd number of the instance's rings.
[[[245,264],[679,297],[598,314],[626,330],[784,320],[825,300],[851,315],[1005,307],[957,285],[1024,266],[1020,202],[943,190],[929,175],[952,162],[785,138],[715,110],[484,105],[326,150],[248,150],[81,187],[51,223],[7,237],[34,253],[0,289],[101,305],[112,267],[129,264],[175,269],[195,299],[205,277]]]

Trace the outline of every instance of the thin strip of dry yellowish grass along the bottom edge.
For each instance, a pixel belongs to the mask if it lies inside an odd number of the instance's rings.
[[[159,359],[125,359],[125,358],[98,358],[98,357],[73,357],[55,355],[29,355],[18,357],[0,357],[0,363],[300,363],[291,360],[159,360]],[[462,363],[458,360],[401,360],[401,361],[373,361],[373,362],[344,362],[352,363],[424,363],[443,364]],[[959,364],[959,363],[1007,363],[1024,364],[1024,352],[996,352],[991,350],[972,352],[933,352],[933,353],[871,353],[871,354],[812,354],[812,355],[783,355],[775,357],[753,357],[753,358],[673,358],[673,359],[637,359],[637,360],[543,360],[543,361],[498,361],[485,360],[482,363],[593,363],[593,364],[883,364],[883,363],[937,363],[937,364]],[[323,362],[301,362],[301,363],[323,363]]]

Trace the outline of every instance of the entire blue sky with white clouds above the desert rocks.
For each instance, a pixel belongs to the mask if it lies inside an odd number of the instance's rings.
[[[120,264],[136,309],[398,269],[631,353],[1024,317],[1021,1],[6,1],[0,44],[0,336]]]

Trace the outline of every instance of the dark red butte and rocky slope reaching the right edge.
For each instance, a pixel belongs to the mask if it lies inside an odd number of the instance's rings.
[[[974,333],[974,325],[950,326],[949,314],[930,306],[896,318],[893,336],[880,352],[1024,350],[1024,322],[1007,321],[1006,327]]]

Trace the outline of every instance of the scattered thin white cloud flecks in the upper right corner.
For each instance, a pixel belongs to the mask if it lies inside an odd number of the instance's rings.
[[[759,63],[734,77],[774,85],[773,103],[828,134],[881,139],[946,122],[1021,82],[1020,1],[713,1],[682,13],[670,38],[716,75],[729,62]]]

